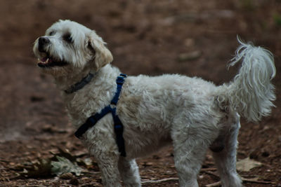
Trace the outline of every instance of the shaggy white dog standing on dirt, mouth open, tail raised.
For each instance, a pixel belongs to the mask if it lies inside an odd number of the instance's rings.
[[[116,108],[110,101],[120,72],[110,65],[112,54],[93,30],[59,20],[35,41],[34,54],[39,67],[55,78],[75,129],[105,106],[117,110],[126,157],[120,155],[111,112],[80,134],[98,162],[104,186],[121,186],[120,176],[124,186],[141,186],[135,158],[166,144],[174,146],[180,186],[198,186],[208,148],[222,185],[242,186],[235,166],[240,115],[258,121],[268,116],[275,99],[270,83],[275,65],[268,50],[240,41],[230,64],[241,62],[240,71],[220,86],[177,74],[129,76]]]

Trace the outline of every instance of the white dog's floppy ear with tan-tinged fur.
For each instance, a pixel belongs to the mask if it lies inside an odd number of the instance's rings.
[[[106,43],[96,34],[96,32],[91,32],[88,48],[91,50],[91,53],[93,53],[93,65],[96,70],[104,67],[106,64],[110,64],[113,60],[112,54],[110,53],[110,50],[105,47],[105,44]]]

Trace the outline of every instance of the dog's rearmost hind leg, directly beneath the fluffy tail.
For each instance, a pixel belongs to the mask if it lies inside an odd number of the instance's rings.
[[[229,124],[228,130],[225,131],[223,150],[213,153],[223,187],[242,186],[242,181],[236,172],[237,135],[240,128],[239,117],[237,118],[235,123]]]

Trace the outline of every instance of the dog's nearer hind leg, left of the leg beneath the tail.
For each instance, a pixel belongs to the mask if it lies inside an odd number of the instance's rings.
[[[185,129],[172,132],[174,162],[181,187],[198,186],[197,174],[210,144],[200,130],[195,129],[196,127],[189,129],[187,125]]]

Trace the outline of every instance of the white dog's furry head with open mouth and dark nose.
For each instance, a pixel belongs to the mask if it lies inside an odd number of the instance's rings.
[[[38,66],[50,74],[85,67],[97,71],[113,60],[96,32],[70,20],[55,22],[34,42],[33,51]]]

